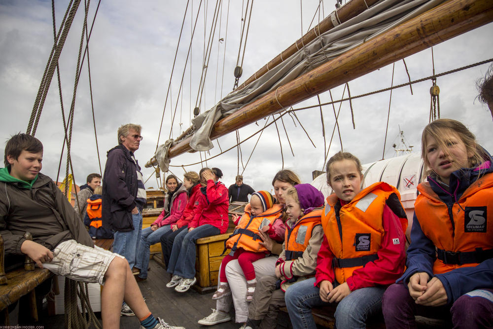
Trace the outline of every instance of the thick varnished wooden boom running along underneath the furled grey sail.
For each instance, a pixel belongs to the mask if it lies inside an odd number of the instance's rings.
[[[493,1],[449,0],[303,74],[214,124],[211,139],[224,136],[283,108],[337,87],[440,42],[493,21]],[[276,100],[277,98],[277,100]],[[192,150],[191,137],[168,151]]]

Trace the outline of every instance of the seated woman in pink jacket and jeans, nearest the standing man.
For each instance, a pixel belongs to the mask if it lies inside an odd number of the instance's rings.
[[[168,193],[164,197],[163,212],[150,227],[142,229],[141,241],[137,245],[133,270],[134,273],[140,272],[136,277],[137,281],[147,279],[150,246],[158,243],[161,235],[172,229],[171,225],[180,219],[187,203],[186,187],[178,183],[175,175],[169,175],[166,178],[166,188]]]

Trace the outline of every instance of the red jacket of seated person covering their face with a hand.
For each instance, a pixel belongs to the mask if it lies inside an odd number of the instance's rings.
[[[207,187],[201,188],[201,192],[202,197],[199,202],[202,202],[205,207],[200,216],[199,214],[194,216],[188,227],[195,228],[200,225],[211,224],[219,228],[219,233],[226,233],[229,225],[228,189],[221,182],[214,183],[214,181],[209,180],[207,181]]]

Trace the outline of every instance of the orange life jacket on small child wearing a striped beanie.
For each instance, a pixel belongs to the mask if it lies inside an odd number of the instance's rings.
[[[247,204],[238,225],[226,241],[226,248],[230,248],[233,253],[237,248],[243,248],[254,253],[266,252],[267,249],[260,244],[262,239],[258,235],[258,231],[262,227],[274,223],[282,213],[280,204],[275,204],[272,208],[254,217],[251,217],[250,209],[250,204]]]

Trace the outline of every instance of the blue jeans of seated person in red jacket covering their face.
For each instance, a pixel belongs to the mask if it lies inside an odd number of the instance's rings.
[[[195,254],[197,253],[195,242],[197,239],[217,234],[219,234],[219,229],[211,224],[200,225],[190,232],[187,229],[181,231],[173,243],[168,273],[185,279],[194,278]]]

